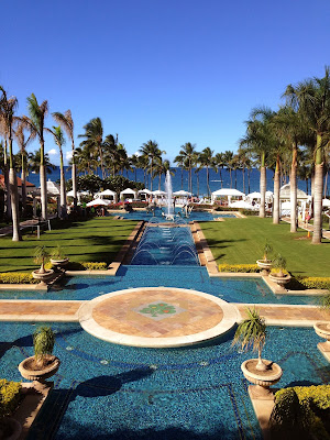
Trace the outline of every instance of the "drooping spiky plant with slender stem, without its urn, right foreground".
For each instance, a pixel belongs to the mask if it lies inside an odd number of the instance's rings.
[[[266,342],[266,323],[255,308],[246,308],[248,318],[238,327],[232,344],[241,345],[242,350],[257,351],[258,362],[256,370],[265,371],[267,365],[262,360],[262,350]]]

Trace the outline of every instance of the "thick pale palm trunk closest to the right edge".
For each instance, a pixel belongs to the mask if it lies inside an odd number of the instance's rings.
[[[317,148],[315,158],[315,183],[314,183],[314,233],[312,244],[320,244],[322,238],[322,194],[323,194],[323,163],[322,163],[322,138],[317,134]]]

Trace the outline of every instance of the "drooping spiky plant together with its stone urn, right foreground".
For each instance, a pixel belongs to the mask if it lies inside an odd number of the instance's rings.
[[[241,345],[242,350],[257,351],[257,359],[249,359],[241,365],[244,377],[254,386],[249,386],[251,398],[270,399],[274,398],[270,387],[276,384],[282,377],[282,369],[272,361],[262,359],[262,350],[266,341],[266,323],[255,308],[246,308],[248,318],[238,327],[233,345]]]

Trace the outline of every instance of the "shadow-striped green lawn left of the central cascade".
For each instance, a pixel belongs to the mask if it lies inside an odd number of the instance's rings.
[[[14,243],[10,237],[0,239],[0,272],[25,272],[37,267],[34,250],[45,245],[50,251],[59,244],[73,262],[111,263],[135,227],[135,221],[113,220],[111,217],[75,222],[69,228],[55,229],[41,235],[28,234]],[[61,226],[59,226],[61,228]]]

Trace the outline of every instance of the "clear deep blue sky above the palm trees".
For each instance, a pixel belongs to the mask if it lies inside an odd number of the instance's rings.
[[[235,151],[253,107],[276,110],[330,64],[329,0],[11,0],[1,15],[0,84],[18,113],[34,92],[72,110],[76,136],[100,117],[129,154],[150,139],[169,160],[185,142]]]

